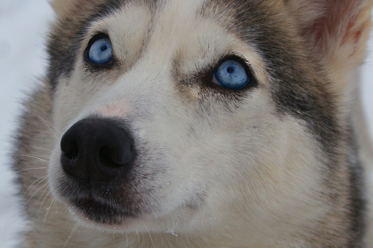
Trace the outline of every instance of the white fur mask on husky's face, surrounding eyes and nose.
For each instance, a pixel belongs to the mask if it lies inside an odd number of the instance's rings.
[[[135,134],[139,143],[146,142],[151,150],[159,149],[162,144],[165,157],[142,168],[151,170],[166,165],[167,172],[153,181],[153,186],[162,190],[153,193],[152,198],[141,196],[150,206],[160,205],[150,216],[116,226],[118,232],[149,230],[164,233],[171,240],[175,238],[167,234],[170,230],[180,233],[179,240],[183,240],[183,233],[206,232],[212,239],[221,239],[219,235],[235,242],[232,243],[235,247],[268,246],[273,240],[286,243],[291,237],[283,236],[284,228],[296,232],[305,220],[312,222],[323,214],[323,211],[309,211],[323,206],[320,195],[314,193],[319,191],[320,184],[316,176],[319,166],[315,164],[323,162],[319,156],[322,152],[301,124],[294,128],[297,120],[291,117],[280,120],[272,114],[275,106],[265,89],[254,91],[235,115],[225,113],[221,103],[211,102],[213,116],[206,117],[206,121],[195,120],[192,113],[198,108],[198,95],[185,97],[173,89],[170,72],[176,56],[183,65],[181,73],[188,73],[197,69],[197,63],[216,60],[215,54],[240,51],[264,84],[268,76],[260,66],[263,64],[260,56],[250,45],[227,35],[213,20],[195,16],[202,2],[167,2],[154,17],[150,41],[138,61],[134,60],[141,47],[132,44],[141,44],[151,25],[151,14],[146,7],[130,5],[115,16],[93,23],[92,31],[109,32],[114,53],[123,62],[125,73],[91,77],[81,69],[79,59],[69,85],[60,79],[54,123],[60,130],[67,130],[91,114],[131,116],[135,130],[139,130]],[[88,39],[81,50],[87,42]],[[205,54],[203,60],[200,54]],[[88,79],[82,83],[84,76]],[[188,136],[191,124],[197,128],[196,137]],[[57,142],[49,168],[51,189],[57,198],[60,198],[57,178],[64,177],[59,154]],[[144,180],[142,184],[147,182]],[[203,209],[194,212],[182,207],[185,200],[200,191],[206,191]],[[162,203],[153,203],[157,195],[166,198]],[[78,221],[86,222],[85,218]],[[91,222],[86,223],[90,226]],[[225,225],[234,226],[234,231],[223,234]],[[110,226],[100,228],[114,231]]]

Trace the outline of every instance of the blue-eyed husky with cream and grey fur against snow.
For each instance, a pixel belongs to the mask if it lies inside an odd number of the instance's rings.
[[[52,5],[15,147],[23,247],[373,247],[372,0]]]

